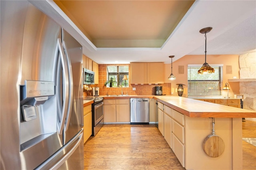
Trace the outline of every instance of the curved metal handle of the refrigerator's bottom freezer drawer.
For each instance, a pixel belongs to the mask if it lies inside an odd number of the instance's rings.
[[[84,129],[82,128],[76,136],[74,136],[67,144],[65,144],[60,150],[55,152],[48,160],[43,162],[40,166],[36,167],[35,170],[58,169],[78,148],[82,142]],[[73,146],[74,145],[74,146]],[[72,146],[72,148],[70,148]],[[67,152],[68,150],[68,152]],[[66,153],[67,152],[67,153]]]

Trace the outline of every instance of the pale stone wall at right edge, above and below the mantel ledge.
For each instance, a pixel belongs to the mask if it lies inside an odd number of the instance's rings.
[[[256,52],[239,56],[240,79],[256,78]],[[256,81],[240,81],[240,95],[244,95],[244,109],[256,111]]]

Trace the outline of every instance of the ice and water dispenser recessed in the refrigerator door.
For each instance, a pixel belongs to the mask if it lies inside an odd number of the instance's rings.
[[[25,80],[20,85],[20,150],[56,132],[54,93],[51,81]]]

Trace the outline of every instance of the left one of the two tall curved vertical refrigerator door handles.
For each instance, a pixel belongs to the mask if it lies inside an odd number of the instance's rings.
[[[58,38],[57,40],[57,46],[58,49],[60,51],[60,65],[62,66],[62,83],[63,83],[63,87],[62,87],[62,98],[63,98],[63,105],[62,105],[62,109],[58,109],[58,111],[61,112],[61,117],[60,117],[60,122],[58,122],[58,132],[59,134],[62,134],[63,129],[64,129],[64,124],[65,124],[65,120],[66,120],[66,115],[67,115],[67,109],[68,109],[68,67],[67,67],[67,63],[66,63],[66,59],[64,57],[65,53],[64,53],[64,49],[61,43],[60,38]],[[60,71],[60,70],[58,70]],[[60,80],[60,75],[56,77],[57,80]],[[57,81],[58,82],[58,81]],[[60,87],[60,83],[57,84],[57,88]],[[60,96],[57,97],[57,102],[58,105],[60,105]],[[59,106],[60,107],[60,106]]]

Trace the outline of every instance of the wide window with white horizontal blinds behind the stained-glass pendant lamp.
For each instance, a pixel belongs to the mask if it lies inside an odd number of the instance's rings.
[[[211,65],[215,73],[198,74],[202,65],[188,65],[188,97],[222,97],[222,67]]]

